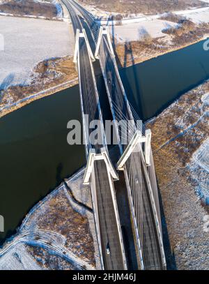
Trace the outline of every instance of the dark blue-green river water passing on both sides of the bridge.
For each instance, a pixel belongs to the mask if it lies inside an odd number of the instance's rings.
[[[121,77],[130,102],[146,120],[208,79],[209,52],[203,42],[197,43],[123,69]],[[105,96],[102,79],[100,95]],[[0,215],[5,218],[1,242],[36,202],[84,165],[84,147],[67,143],[70,119],[81,120],[77,86],[0,119]]]

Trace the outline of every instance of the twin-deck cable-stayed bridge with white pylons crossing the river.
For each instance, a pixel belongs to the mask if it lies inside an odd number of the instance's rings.
[[[125,181],[123,193],[130,211],[130,230],[138,269],[165,269],[160,205],[155,167],[150,146],[151,133],[146,130],[130,105],[118,72],[108,27],[95,24],[93,15],[74,0],[63,0],[70,12],[75,33],[75,57],[79,73],[79,91],[86,140],[87,167],[84,183],[91,185],[95,226],[102,269],[127,269],[125,235],[121,230],[123,212],[118,208],[115,182]],[[88,31],[84,29],[85,20]],[[88,36],[87,34],[88,33]],[[91,46],[90,44],[91,43]],[[93,48],[92,48],[93,46]],[[98,96],[93,61],[99,59],[114,121],[118,146],[109,151]],[[92,144],[89,120],[102,121],[100,143]],[[118,121],[122,123],[118,124]],[[128,124],[125,122],[128,121]],[[128,127],[127,127],[128,125]],[[128,143],[123,143],[129,137]],[[112,154],[114,152],[114,154]],[[120,187],[119,181],[119,187]],[[117,181],[118,182],[118,181]]]

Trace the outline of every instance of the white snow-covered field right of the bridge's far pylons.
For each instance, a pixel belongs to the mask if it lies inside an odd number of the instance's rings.
[[[165,36],[162,31],[171,27],[176,27],[177,24],[166,20],[152,20],[147,22],[135,22],[121,26],[114,26],[114,36],[118,43],[125,41],[140,40],[148,33],[152,38],[160,38]],[[111,33],[112,28],[109,27]]]

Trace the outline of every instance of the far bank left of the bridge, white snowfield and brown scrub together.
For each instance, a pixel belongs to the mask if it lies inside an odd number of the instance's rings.
[[[0,109],[77,77],[68,22],[0,17]]]

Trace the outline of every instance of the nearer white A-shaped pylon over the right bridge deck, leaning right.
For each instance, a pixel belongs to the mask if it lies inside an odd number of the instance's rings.
[[[132,137],[132,140],[128,144],[127,148],[123,152],[120,160],[118,160],[117,167],[118,170],[123,170],[125,162],[130,157],[133,151],[135,151],[137,145],[140,143],[144,143],[144,158],[146,161],[146,165],[150,165],[150,149],[151,149],[151,130],[148,129],[145,132],[145,136],[141,135],[141,131],[137,130]]]

